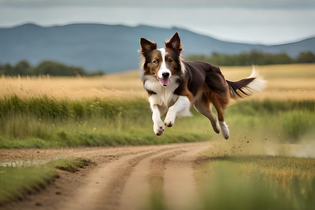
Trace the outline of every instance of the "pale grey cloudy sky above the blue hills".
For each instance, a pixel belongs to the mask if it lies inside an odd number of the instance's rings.
[[[0,0],[0,27],[24,23],[179,27],[224,41],[273,45],[315,37],[315,1]]]

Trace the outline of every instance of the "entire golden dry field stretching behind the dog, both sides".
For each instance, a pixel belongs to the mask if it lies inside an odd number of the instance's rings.
[[[252,66],[222,66],[226,80],[238,81],[251,75]],[[315,64],[286,64],[256,66],[268,81],[255,99],[314,99]],[[62,99],[146,98],[139,70],[100,77],[5,77],[0,78],[0,96],[51,96]]]

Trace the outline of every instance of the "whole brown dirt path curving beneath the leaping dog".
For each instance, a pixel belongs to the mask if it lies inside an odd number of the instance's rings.
[[[6,209],[145,209],[162,192],[168,209],[189,209],[196,193],[198,154],[209,142],[160,146],[2,151],[8,160],[84,157],[96,164],[76,173],[60,171],[45,190]]]

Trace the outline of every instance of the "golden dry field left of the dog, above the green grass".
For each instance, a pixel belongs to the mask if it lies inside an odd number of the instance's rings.
[[[51,96],[60,99],[146,97],[137,71],[99,77],[1,77],[0,97]]]

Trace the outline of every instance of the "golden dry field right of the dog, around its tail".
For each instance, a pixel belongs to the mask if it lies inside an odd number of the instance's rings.
[[[268,81],[262,93],[251,99],[303,100],[315,98],[315,64],[285,64],[256,66]],[[251,66],[223,66],[225,79],[237,81],[250,76]]]

